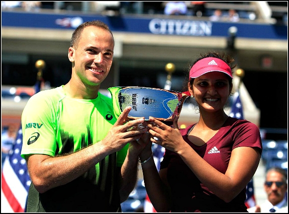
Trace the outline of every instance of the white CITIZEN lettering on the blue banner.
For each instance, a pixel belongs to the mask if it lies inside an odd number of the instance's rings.
[[[154,18],[148,28],[154,34],[210,36],[211,26],[210,21]]]

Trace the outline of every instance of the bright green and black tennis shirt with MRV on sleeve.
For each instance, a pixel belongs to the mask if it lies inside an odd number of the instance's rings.
[[[103,139],[116,117],[111,98],[99,92],[95,99],[75,99],[65,95],[63,85],[40,91],[22,112],[21,156],[76,152]],[[73,181],[44,193],[31,183],[27,211],[120,211],[116,166],[122,165],[127,148],[128,144]]]

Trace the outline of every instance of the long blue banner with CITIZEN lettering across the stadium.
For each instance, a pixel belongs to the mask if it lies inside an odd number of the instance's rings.
[[[156,18],[157,17],[157,18]],[[242,22],[218,22],[199,20],[196,17],[185,19],[172,19],[167,16],[153,15],[139,17],[105,16],[91,14],[66,13],[30,13],[2,11],[1,24],[11,27],[35,27],[53,29],[74,29],[84,21],[99,19],[107,23],[111,31],[152,33],[163,35],[183,36],[227,36],[230,26],[237,27],[237,36],[260,39],[287,39],[287,26],[279,24],[256,23],[248,20]]]

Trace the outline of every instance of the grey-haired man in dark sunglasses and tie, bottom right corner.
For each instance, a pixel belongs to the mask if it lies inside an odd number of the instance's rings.
[[[262,204],[248,208],[248,212],[286,212],[287,173],[282,168],[272,167],[267,170],[264,190],[267,200]]]

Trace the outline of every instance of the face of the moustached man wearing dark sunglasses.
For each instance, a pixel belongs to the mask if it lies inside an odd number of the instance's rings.
[[[282,180],[282,174],[276,171],[268,172],[264,183],[268,200],[273,204],[279,203],[287,190],[287,184]]]

